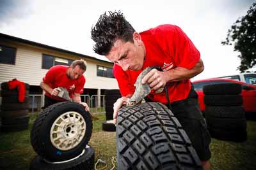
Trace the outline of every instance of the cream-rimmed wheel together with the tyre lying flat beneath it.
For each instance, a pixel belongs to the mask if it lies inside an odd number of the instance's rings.
[[[31,129],[38,154],[30,169],[93,169],[92,116],[78,103],[61,102],[45,108]]]

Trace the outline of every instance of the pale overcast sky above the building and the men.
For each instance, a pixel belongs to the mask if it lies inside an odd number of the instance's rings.
[[[0,0],[0,32],[105,59],[93,52],[90,31],[104,11],[122,11],[136,31],[178,25],[201,53],[205,70],[193,80],[239,73],[234,46],[221,41],[250,0]]]

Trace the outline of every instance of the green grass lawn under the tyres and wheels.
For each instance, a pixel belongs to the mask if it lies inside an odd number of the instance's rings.
[[[116,156],[115,132],[102,131],[102,122],[105,121],[103,113],[94,116],[99,119],[93,120],[93,134],[89,145],[95,150],[95,162],[102,159],[107,162],[108,169],[111,169],[111,158]],[[29,163],[36,155],[30,144],[30,130],[35,117],[36,114],[31,116],[32,121],[26,131],[0,132],[0,169],[29,169]],[[245,143],[212,139],[211,169],[256,169],[256,122],[248,121],[247,126],[248,140]]]

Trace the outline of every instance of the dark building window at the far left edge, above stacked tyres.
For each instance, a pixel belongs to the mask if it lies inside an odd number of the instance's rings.
[[[0,63],[15,64],[16,48],[0,45]]]

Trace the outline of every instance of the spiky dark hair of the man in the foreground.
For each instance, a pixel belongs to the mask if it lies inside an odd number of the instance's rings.
[[[123,13],[120,11],[106,12],[100,15],[97,24],[92,27],[92,39],[95,41],[93,50],[99,55],[108,55],[113,43],[117,39],[122,41],[130,41],[133,43],[133,32],[135,29],[125,20]]]

